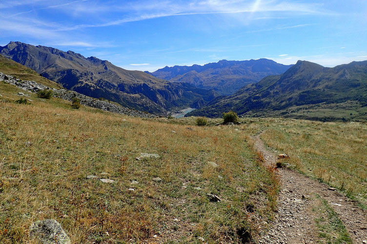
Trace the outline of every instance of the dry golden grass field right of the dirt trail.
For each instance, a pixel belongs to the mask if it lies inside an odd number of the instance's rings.
[[[367,206],[367,125],[264,119],[262,139],[290,155],[287,163]]]

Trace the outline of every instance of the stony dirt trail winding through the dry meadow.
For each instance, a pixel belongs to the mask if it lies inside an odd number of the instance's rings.
[[[260,135],[253,137],[257,150],[263,152],[266,164],[275,165],[275,153],[267,150]],[[279,169],[281,192],[278,212],[268,229],[262,230],[258,243],[310,244],[317,242],[314,219],[319,217],[316,194],[325,199],[347,227],[353,243],[367,244],[367,211],[338,191],[288,169]]]

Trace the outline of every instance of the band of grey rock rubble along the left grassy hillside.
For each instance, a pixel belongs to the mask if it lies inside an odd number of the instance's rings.
[[[74,97],[77,97],[80,99],[80,103],[84,106],[89,106],[92,108],[101,109],[104,111],[109,111],[112,113],[120,113],[120,114],[126,114],[129,116],[135,116],[135,117],[143,117],[143,118],[153,118],[156,117],[154,114],[151,113],[145,113],[142,111],[137,110],[131,110],[126,107],[123,107],[121,105],[113,104],[108,101],[102,101],[99,99],[92,98],[90,96],[86,96],[77,92],[65,90],[65,89],[54,89],[49,88],[47,86],[43,86],[35,81],[31,80],[20,80],[18,78],[14,78],[11,75],[4,75],[0,73],[0,81],[4,81],[9,84],[13,84],[20,89],[28,92],[36,93],[40,90],[46,90],[46,89],[52,89],[54,91],[54,96],[59,97],[64,100],[71,101]]]

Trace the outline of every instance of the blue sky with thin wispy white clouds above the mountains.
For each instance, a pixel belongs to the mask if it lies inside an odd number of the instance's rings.
[[[366,0],[1,0],[10,40],[129,70],[246,60],[367,60]]]

